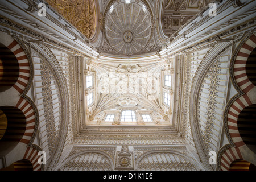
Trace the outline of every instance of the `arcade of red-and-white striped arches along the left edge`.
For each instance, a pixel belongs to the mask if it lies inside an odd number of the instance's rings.
[[[3,34],[0,32],[0,34]],[[19,45],[19,43],[12,38],[10,35],[4,36],[1,39],[1,43],[4,44],[7,48],[10,49],[11,52],[14,53],[16,59],[19,63],[19,77],[16,81],[15,85],[13,85],[13,88],[17,90],[20,94],[23,93],[24,89],[28,86],[28,81],[30,80],[30,63],[28,61],[27,55],[24,52],[23,48]],[[11,94],[11,93],[10,93]],[[15,102],[14,102],[15,103]],[[22,96],[17,97],[16,104],[10,104],[11,106],[15,106],[16,108],[20,109],[24,116],[26,117],[26,130],[22,136],[22,139],[20,142],[24,144],[29,144],[32,139],[32,135],[34,134],[35,130],[35,110],[33,109],[32,105],[26,98],[23,98]],[[33,169],[38,171],[41,170],[41,165],[38,164],[38,159],[40,156],[38,156],[38,150],[36,150],[33,147],[27,146],[26,151],[20,151],[24,152],[23,159],[30,160],[30,162],[33,164]]]

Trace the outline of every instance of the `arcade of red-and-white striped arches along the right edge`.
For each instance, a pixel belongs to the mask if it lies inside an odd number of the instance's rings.
[[[234,61],[234,78],[237,82],[237,85],[240,86],[240,89],[245,93],[243,96],[238,97],[233,104],[230,106],[228,111],[227,123],[229,135],[232,138],[236,147],[228,148],[222,154],[221,157],[221,169],[228,171],[230,164],[234,160],[243,159],[240,148],[245,145],[241,135],[238,131],[238,116],[245,107],[255,104],[251,100],[250,96],[247,93],[254,88],[254,84],[249,80],[246,75],[246,62],[250,53],[256,47],[256,34],[252,35],[240,48],[240,51],[237,53],[236,60]],[[256,93],[255,93],[256,94]]]

